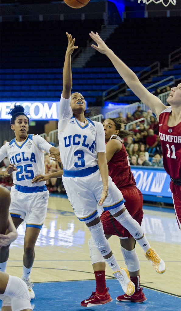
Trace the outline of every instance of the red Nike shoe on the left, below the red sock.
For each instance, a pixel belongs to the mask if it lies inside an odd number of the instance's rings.
[[[97,288],[95,292],[92,292],[92,295],[88,297],[88,299],[83,300],[80,305],[82,307],[92,307],[95,304],[107,304],[108,302],[112,301],[111,296],[108,293],[109,287],[105,288],[103,293],[99,293]]]

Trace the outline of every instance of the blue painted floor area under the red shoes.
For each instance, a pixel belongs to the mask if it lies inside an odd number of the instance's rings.
[[[107,280],[107,286],[110,288],[109,293],[113,301],[102,306],[87,308],[87,310],[180,311],[181,300],[177,296],[143,288],[143,292],[147,297],[144,303],[119,302],[116,301],[116,296],[123,294],[119,282],[116,279],[109,279]],[[95,281],[35,283],[33,289],[36,296],[31,302],[34,311],[81,311],[86,309],[80,306],[80,302],[87,299],[95,290]]]

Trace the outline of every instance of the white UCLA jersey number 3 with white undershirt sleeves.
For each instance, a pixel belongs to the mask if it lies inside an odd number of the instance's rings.
[[[100,122],[86,118],[79,122],[70,107],[70,98],[60,99],[58,138],[64,169],[86,169],[97,165],[97,152],[106,152],[105,134]]]

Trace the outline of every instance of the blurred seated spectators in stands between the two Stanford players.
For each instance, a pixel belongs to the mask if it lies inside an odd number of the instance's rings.
[[[122,118],[121,113],[119,117]],[[140,120],[141,118],[145,118],[146,122],[145,119]],[[158,122],[152,111],[144,111],[138,105],[132,115],[128,112],[126,118],[122,118],[122,128],[126,129],[126,125],[131,136],[124,139],[123,143],[129,155],[130,164],[163,167]]]

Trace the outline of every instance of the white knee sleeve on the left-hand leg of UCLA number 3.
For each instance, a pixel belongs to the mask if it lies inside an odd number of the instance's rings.
[[[102,223],[99,222],[97,225],[88,227],[88,230],[92,235],[94,244],[98,248],[99,253],[102,256],[108,255],[111,252],[111,248],[104,235]]]

